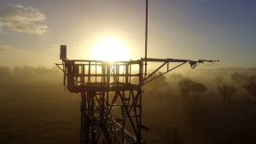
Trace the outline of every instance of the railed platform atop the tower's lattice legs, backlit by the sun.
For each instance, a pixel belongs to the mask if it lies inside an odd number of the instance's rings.
[[[141,60],[63,60],[64,85],[70,92],[139,90],[143,83]]]

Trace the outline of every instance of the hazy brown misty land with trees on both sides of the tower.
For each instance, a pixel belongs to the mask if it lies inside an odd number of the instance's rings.
[[[160,73],[157,73],[160,74]],[[0,66],[0,143],[79,143],[79,94],[57,67]],[[256,143],[256,68],[170,72],[144,86],[148,143]]]

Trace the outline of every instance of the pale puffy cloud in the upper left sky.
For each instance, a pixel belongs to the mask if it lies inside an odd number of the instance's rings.
[[[6,27],[14,32],[43,34],[47,26],[43,23],[46,19],[39,9],[24,7],[20,4],[9,3],[15,9],[0,11],[0,28]]]

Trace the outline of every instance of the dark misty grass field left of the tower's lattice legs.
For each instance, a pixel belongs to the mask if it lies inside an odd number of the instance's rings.
[[[0,143],[79,143],[79,95],[59,85],[1,89]]]

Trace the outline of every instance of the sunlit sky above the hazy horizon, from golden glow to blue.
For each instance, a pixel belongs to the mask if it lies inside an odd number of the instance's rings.
[[[144,0],[1,0],[0,66],[53,66],[61,44],[69,59],[121,49],[137,60],[144,30]],[[255,55],[256,1],[148,0],[148,57],[219,59],[218,68],[255,67]]]

